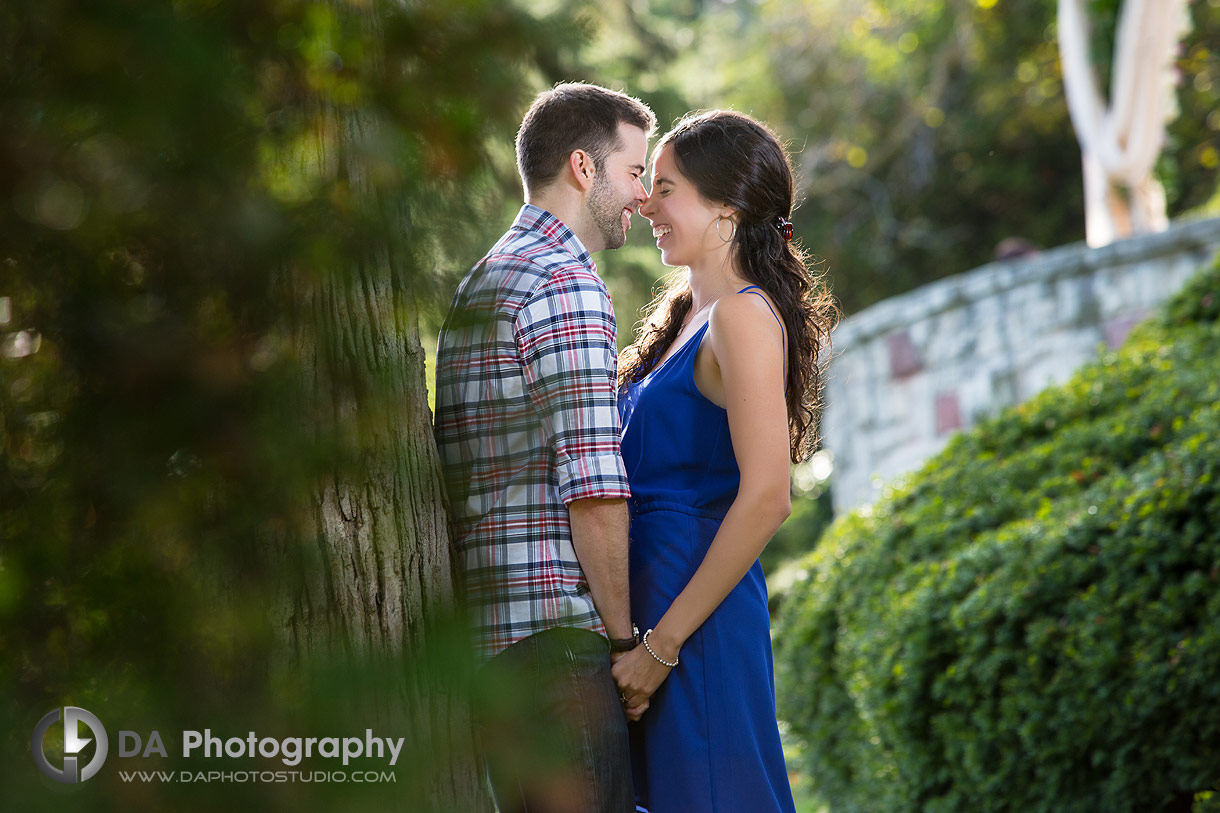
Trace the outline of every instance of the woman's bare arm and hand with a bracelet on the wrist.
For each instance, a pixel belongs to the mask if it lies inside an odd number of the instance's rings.
[[[754,294],[722,299],[709,319],[712,366],[720,374],[712,383],[722,387],[742,479],[703,563],[648,638],[665,660],[680,657],[686,640],[737,586],[792,511],[780,326]],[[614,665],[615,680],[631,706],[650,697],[669,673],[644,647]]]

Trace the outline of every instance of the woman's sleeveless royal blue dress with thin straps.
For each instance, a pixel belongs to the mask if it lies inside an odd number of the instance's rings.
[[[694,383],[704,325],[619,398],[631,481],[631,612],[656,626],[737,496],[728,417]],[[694,635],[631,729],[636,801],[651,813],[793,813],[775,715],[758,562]]]

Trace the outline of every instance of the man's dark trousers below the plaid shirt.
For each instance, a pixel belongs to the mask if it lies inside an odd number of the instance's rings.
[[[605,638],[538,632],[488,662],[478,684],[476,725],[500,813],[636,809]]]

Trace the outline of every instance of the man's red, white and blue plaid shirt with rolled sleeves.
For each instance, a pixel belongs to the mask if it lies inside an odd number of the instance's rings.
[[[437,352],[437,446],[483,658],[556,626],[605,634],[567,504],[631,494],[616,370],[589,253],[526,204],[462,280]]]

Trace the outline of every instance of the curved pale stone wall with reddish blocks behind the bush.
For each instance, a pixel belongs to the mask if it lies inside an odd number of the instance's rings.
[[[1218,250],[1220,219],[1182,222],[993,262],[844,320],[822,416],[836,510],[874,502],[954,432],[1121,344]]]

